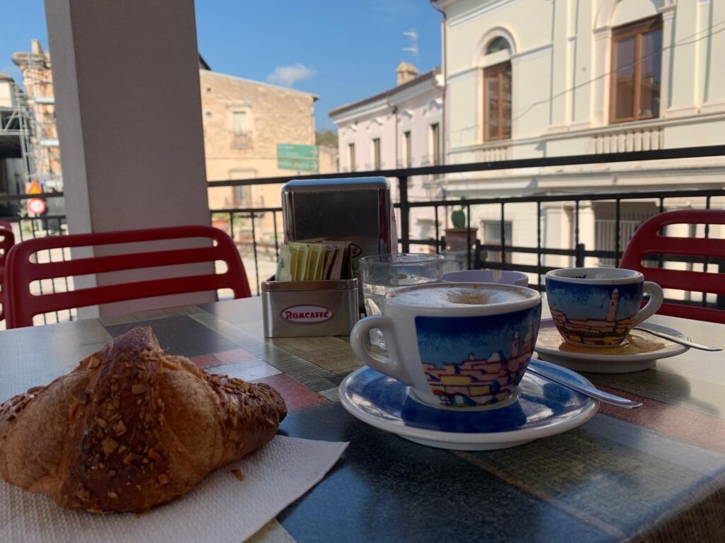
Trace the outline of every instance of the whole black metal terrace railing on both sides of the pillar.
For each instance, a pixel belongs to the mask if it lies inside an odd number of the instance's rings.
[[[725,155],[725,146],[697,147],[686,149],[668,149],[655,151],[639,151],[628,153],[594,154],[588,156],[565,156],[550,157],[544,159],[525,159],[514,161],[484,162],[476,164],[450,164],[445,166],[417,167],[407,169],[390,169],[366,172],[348,172],[347,177],[369,177],[384,176],[397,188],[394,195],[394,207],[397,213],[397,226],[399,229],[399,248],[401,251],[430,251],[436,253],[447,253],[444,238],[444,228],[447,218],[450,216],[453,206],[463,205],[465,216],[468,220],[468,227],[473,227],[473,239],[468,244],[468,250],[462,253],[450,254],[451,261],[457,261],[461,266],[468,269],[492,268],[492,269],[513,269],[530,274],[531,287],[543,289],[544,274],[550,269],[561,266],[618,266],[619,260],[624,253],[629,237],[636,230],[631,218],[626,216],[624,207],[629,203],[649,201],[654,212],[663,212],[672,203],[687,201],[689,206],[711,209],[713,206],[723,206],[725,203],[725,189],[723,188],[657,188],[655,190],[619,190],[617,192],[570,192],[551,194],[537,193],[531,195],[514,195],[505,197],[469,198],[465,201],[457,200],[427,200],[411,201],[408,197],[408,181],[413,176],[436,176],[442,177],[445,174],[461,172],[481,172],[486,170],[510,169],[518,167],[560,167],[563,165],[577,164],[598,164],[604,162],[618,161],[648,161],[678,158],[695,158],[702,156]],[[247,187],[254,185],[281,184],[292,179],[320,179],[335,178],[341,174],[311,174],[307,176],[286,176],[256,178],[250,180],[212,181],[210,187]],[[42,196],[46,199],[62,198],[62,193],[49,193]],[[43,235],[62,235],[66,233],[65,216],[62,214],[47,215],[43,217],[28,218],[15,215],[3,216],[2,210],[8,205],[15,209],[24,209],[27,195],[0,195],[0,219],[14,222],[16,224],[17,240],[28,239]],[[608,216],[606,219],[599,219],[601,235],[597,235],[597,242],[584,242],[581,232],[581,217],[583,209],[590,209],[592,205],[602,203],[607,206]],[[508,211],[513,206],[529,206],[531,215],[536,217],[536,226],[533,230],[533,239],[526,245],[513,245],[510,240],[504,239]],[[480,206],[497,206],[501,233],[500,240],[491,240],[489,237],[476,235],[476,224],[472,222],[472,211],[480,209]],[[569,243],[565,246],[548,246],[544,243],[545,224],[544,216],[552,207],[564,209],[568,214],[568,222],[571,224]],[[410,234],[410,216],[413,212],[426,210],[431,215],[431,230],[433,235],[426,239],[416,239]],[[245,266],[252,292],[259,293],[260,281],[266,279],[273,273],[274,264],[278,256],[279,245],[283,242],[281,237],[281,208],[277,206],[252,206],[231,209],[211,209],[216,221],[221,216],[228,217],[225,222],[225,229],[235,239]],[[611,215],[611,216],[610,216]],[[487,222],[490,222],[487,221]],[[265,226],[263,227],[262,224]],[[515,228],[516,225],[514,224]],[[708,232],[705,232],[705,236]],[[482,243],[481,240],[484,242]],[[591,239],[594,239],[593,237]],[[602,241],[604,240],[604,241]],[[561,244],[559,244],[561,245]],[[606,245],[606,246],[605,246]],[[492,258],[495,256],[495,258]],[[69,258],[68,255],[48,256],[47,258]],[[684,266],[700,266],[697,269],[705,271],[719,270],[725,263],[715,261],[704,261],[702,258],[671,257],[665,258],[664,262],[675,263]],[[662,260],[655,263],[661,265]],[[724,268],[725,269],[725,268]],[[57,288],[52,283],[39,285],[49,290]],[[67,285],[66,285],[67,287]],[[716,300],[714,297],[703,296],[702,300],[674,300],[679,303],[698,304],[703,306],[725,305],[725,300]],[[55,317],[57,319],[57,317]],[[54,321],[50,317],[48,322]]]

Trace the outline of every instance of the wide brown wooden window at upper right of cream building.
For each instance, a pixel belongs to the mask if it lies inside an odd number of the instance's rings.
[[[661,75],[660,17],[614,28],[610,122],[659,117]]]

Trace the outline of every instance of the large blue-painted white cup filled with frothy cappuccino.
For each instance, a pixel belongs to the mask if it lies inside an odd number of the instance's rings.
[[[434,283],[389,292],[383,315],[355,324],[350,345],[365,364],[436,408],[476,410],[507,400],[536,345],[541,295],[500,283]],[[389,358],[365,347],[378,328]]]

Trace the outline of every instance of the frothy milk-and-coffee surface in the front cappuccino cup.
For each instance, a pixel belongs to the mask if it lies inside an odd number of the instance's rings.
[[[532,292],[532,295],[534,293]],[[470,285],[466,287],[436,285],[401,289],[388,295],[389,300],[405,306],[460,307],[488,306],[493,303],[510,303],[529,300],[531,296],[508,285]]]

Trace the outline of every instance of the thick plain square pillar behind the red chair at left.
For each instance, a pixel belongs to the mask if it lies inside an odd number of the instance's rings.
[[[194,1],[46,0],[46,20],[70,232],[209,224]]]

